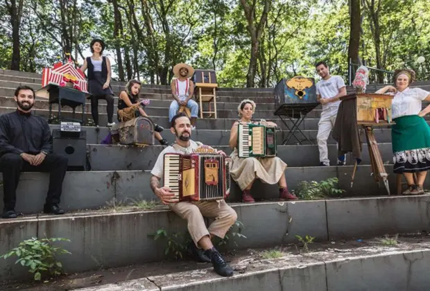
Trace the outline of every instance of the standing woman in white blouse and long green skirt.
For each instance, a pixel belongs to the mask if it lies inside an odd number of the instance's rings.
[[[430,168],[430,127],[424,116],[430,105],[422,109],[422,101],[430,101],[430,92],[420,88],[409,88],[415,81],[415,72],[400,69],[394,72],[394,85],[379,89],[377,94],[394,95],[391,127],[394,173],[403,174],[408,188],[404,195],[424,194],[422,184]],[[413,174],[416,173],[416,184]]]

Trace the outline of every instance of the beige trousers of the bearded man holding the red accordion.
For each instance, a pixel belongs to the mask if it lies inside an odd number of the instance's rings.
[[[237,219],[236,211],[224,200],[219,203],[216,201],[178,202],[169,204],[169,207],[181,218],[187,220],[189,234],[196,246],[201,238],[209,234],[224,238],[225,233]],[[206,228],[203,216],[215,219],[209,228]]]

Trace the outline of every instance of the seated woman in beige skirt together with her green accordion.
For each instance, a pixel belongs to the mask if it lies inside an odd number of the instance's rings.
[[[251,195],[251,187],[255,179],[266,184],[279,185],[280,200],[297,200],[298,197],[289,193],[286,186],[285,168],[282,159],[276,157],[277,145],[273,122],[252,122],[255,103],[246,99],[237,107],[240,119],[236,121],[230,132],[230,148],[234,149],[230,174],[243,191],[243,202],[255,202]]]

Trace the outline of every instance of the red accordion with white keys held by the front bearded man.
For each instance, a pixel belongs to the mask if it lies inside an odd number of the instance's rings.
[[[230,158],[216,153],[166,153],[163,181],[176,202],[225,199],[230,195]]]

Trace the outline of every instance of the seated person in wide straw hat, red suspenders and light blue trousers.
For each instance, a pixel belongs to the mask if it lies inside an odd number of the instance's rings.
[[[194,74],[194,69],[189,64],[177,64],[173,67],[175,79],[172,80],[171,89],[173,101],[169,108],[169,123],[173,116],[178,113],[180,106],[187,106],[191,111],[191,126],[196,129],[196,119],[198,114],[198,105],[196,101],[191,100],[193,97],[194,83],[189,80]]]

